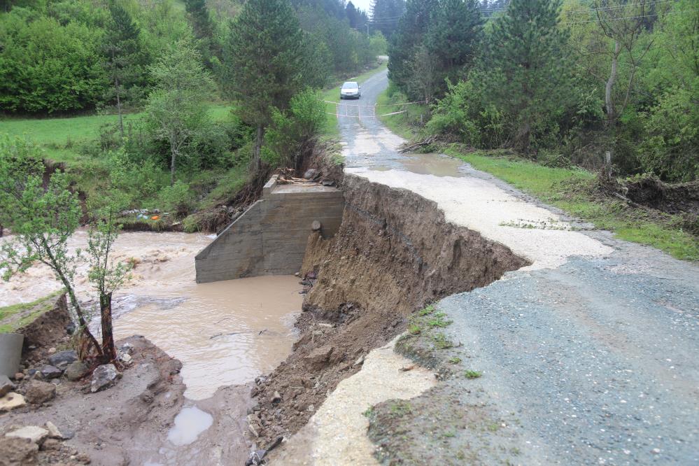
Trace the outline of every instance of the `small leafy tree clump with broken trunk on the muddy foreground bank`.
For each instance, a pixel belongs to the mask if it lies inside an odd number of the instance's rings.
[[[88,278],[99,292],[103,341],[100,345],[87,327],[87,316],[76,295],[80,250],[71,253],[68,241],[80,225],[80,200],[69,190],[66,175],[56,171],[43,183],[43,163],[38,150],[23,141],[0,139],[0,223],[13,236],[0,246],[0,273],[5,281],[36,263],[45,264],[63,285],[71,303],[80,341],[80,358],[97,355],[102,362],[116,356],[111,327],[111,292],[125,279],[125,268],[110,264],[108,258],[116,238],[111,218],[90,230],[87,257]]]

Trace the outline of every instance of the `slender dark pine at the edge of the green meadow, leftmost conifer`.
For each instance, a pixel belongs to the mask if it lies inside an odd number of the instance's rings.
[[[148,55],[141,45],[141,29],[132,20],[129,12],[119,3],[109,3],[110,22],[104,41],[105,68],[110,79],[110,95],[116,100],[119,114],[119,129],[124,137],[122,105],[125,97],[139,99],[139,90],[144,86],[143,67],[148,63]]]

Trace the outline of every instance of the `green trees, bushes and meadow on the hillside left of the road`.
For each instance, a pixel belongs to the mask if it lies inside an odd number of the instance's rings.
[[[125,209],[169,213],[127,227],[215,229],[247,181],[308,153],[313,90],[386,52],[366,22],[339,0],[3,3],[0,133],[88,199],[115,188]]]

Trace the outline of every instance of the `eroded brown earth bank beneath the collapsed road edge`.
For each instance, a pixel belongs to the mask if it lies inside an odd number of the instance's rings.
[[[528,264],[500,243],[444,220],[414,192],[346,175],[345,209],[333,239],[309,238],[302,273],[311,288],[294,352],[253,395],[264,438],[296,432],[363,355],[390,341],[426,303],[491,283]],[[312,285],[311,285],[312,284]],[[276,395],[280,395],[277,397]]]

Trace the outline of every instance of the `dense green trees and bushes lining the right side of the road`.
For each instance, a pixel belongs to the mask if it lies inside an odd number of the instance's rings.
[[[698,44],[691,0],[408,0],[388,69],[394,101],[432,104],[422,132],[682,182],[699,178]]]

